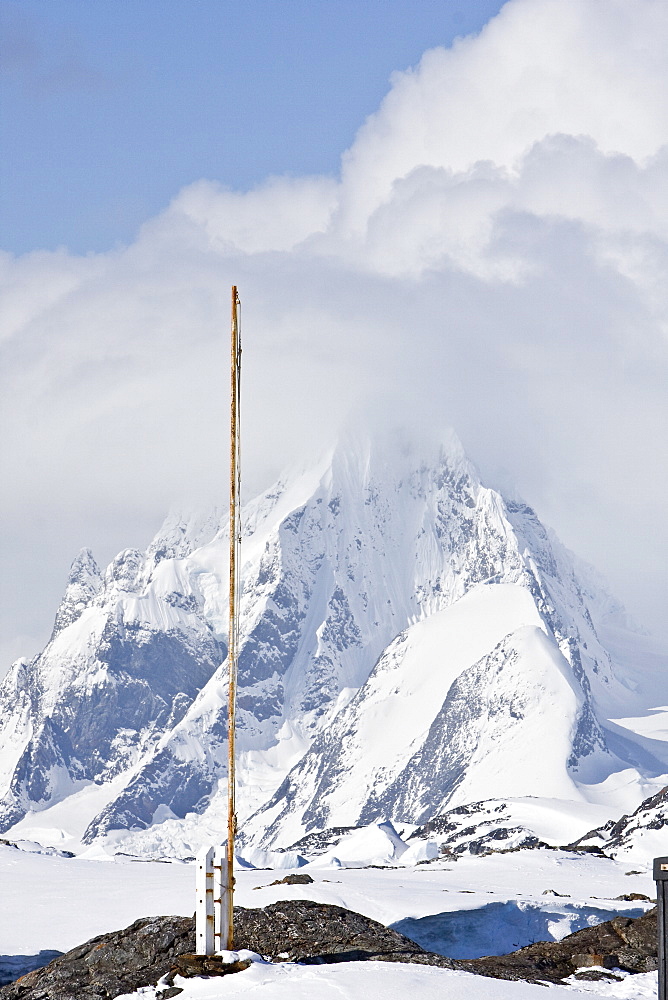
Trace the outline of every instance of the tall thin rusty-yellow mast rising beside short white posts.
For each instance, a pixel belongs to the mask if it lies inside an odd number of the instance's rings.
[[[227,949],[234,947],[234,838],[237,829],[235,808],[236,686],[239,635],[239,516],[241,467],[239,461],[239,403],[241,393],[241,336],[237,286],[232,286],[232,331],[230,343],[230,626],[228,663],[228,751],[227,751]]]

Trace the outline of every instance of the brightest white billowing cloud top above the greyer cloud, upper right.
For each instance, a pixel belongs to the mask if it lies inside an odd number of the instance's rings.
[[[358,232],[416,165],[512,169],[546,135],[586,135],[636,160],[668,141],[662,0],[512,0],[478,37],[394,77],[344,156]]]

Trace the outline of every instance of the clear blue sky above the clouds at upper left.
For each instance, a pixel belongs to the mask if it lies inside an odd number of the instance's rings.
[[[390,75],[501,0],[2,0],[0,246],[127,243],[199,178],[335,174]]]

